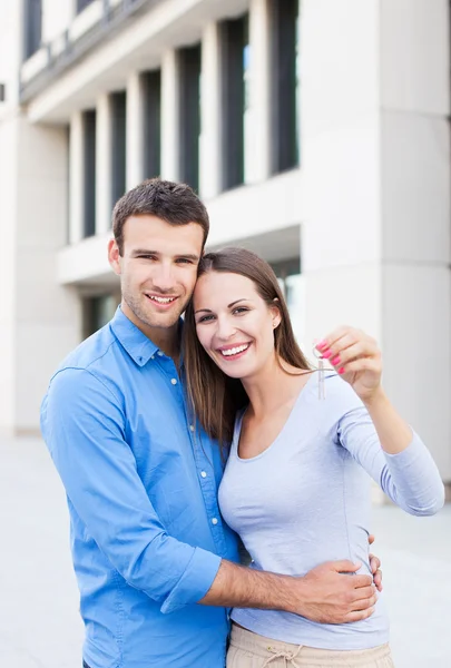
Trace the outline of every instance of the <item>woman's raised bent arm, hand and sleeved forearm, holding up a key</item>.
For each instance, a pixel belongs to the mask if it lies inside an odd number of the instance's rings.
[[[341,387],[339,401],[343,402],[337,420],[341,444],[408,512],[433,514],[440,510],[444,502],[440,473],[382,389],[376,342],[360,330],[340,327],[316,347],[347,383],[347,391],[346,385]]]

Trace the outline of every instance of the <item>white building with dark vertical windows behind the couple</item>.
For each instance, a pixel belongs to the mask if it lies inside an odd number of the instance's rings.
[[[273,263],[307,353],[380,340],[451,482],[449,50],[447,0],[2,2],[0,428],[109,317],[114,202],[159,174]]]

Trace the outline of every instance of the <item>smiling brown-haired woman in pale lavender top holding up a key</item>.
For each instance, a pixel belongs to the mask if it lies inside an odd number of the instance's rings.
[[[203,258],[184,336],[193,409],[212,436],[232,443],[220,509],[253,568],[302,576],[350,559],[370,572],[365,471],[406,512],[442,507],[431,455],[382,390],[374,340],[340,327],[316,345],[335,370],[318,399],[318,374],[258,256],[229,248]],[[232,619],[228,668],[393,666],[382,598],[369,619],[349,625],[273,610],[235,609]]]

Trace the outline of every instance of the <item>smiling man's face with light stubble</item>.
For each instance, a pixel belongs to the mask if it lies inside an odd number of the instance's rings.
[[[175,226],[151,215],[126,220],[122,256],[110,242],[109,261],[120,276],[122,310],[136,325],[169,328],[178,322],[196,283],[203,239],[197,223]]]

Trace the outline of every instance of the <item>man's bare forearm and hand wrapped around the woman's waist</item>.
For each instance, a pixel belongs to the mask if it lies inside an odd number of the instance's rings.
[[[223,560],[199,603],[283,610],[325,623],[357,621],[372,615],[376,600],[372,578],[355,576],[357,568],[350,561],[327,562],[295,578]]]

